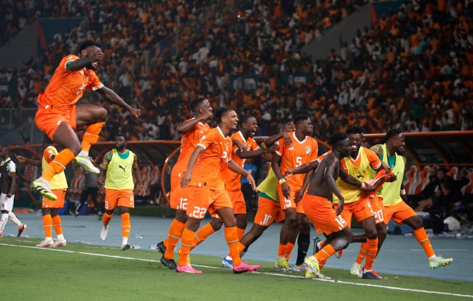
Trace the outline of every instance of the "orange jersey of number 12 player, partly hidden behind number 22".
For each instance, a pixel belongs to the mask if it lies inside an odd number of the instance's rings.
[[[190,119],[189,119],[190,120]],[[188,121],[188,120],[186,120]],[[181,151],[171,171],[171,177],[182,177],[187,169],[187,162],[203,134],[210,129],[207,123],[199,122],[184,135],[181,135]]]

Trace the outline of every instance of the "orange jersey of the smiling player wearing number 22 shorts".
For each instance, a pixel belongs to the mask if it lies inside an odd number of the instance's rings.
[[[213,190],[225,188],[224,173],[227,162],[232,159],[232,139],[225,137],[220,127],[208,130],[197,144],[205,151],[199,156],[199,161],[192,171],[189,185],[205,186]]]

